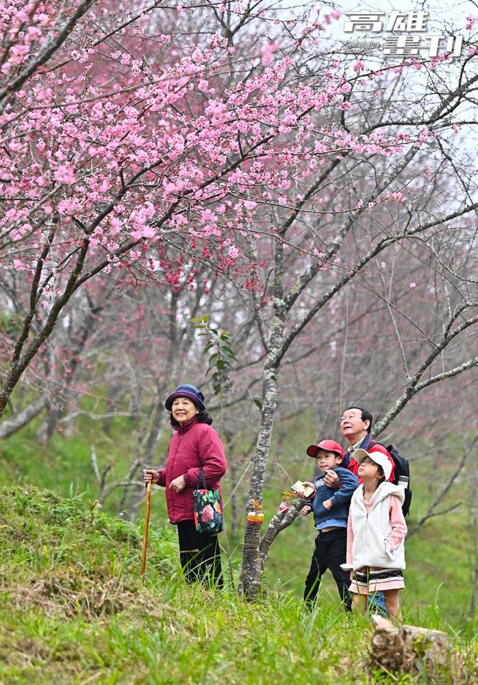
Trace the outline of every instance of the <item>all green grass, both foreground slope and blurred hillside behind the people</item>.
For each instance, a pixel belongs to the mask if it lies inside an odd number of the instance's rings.
[[[56,433],[47,447],[36,445],[38,423],[0,443],[0,479],[11,484],[0,499],[1,685],[247,685],[304,677],[344,685],[427,682],[425,675],[420,680],[419,675],[387,675],[368,667],[370,623],[342,613],[329,574],[318,609],[312,616],[304,614],[303,582],[315,536],[310,517],[275,540],[266,563],[268,598],[249,606],[236,597],[232,584],[221,595],[185,586],[164,492],[155,488],[143,584],[138,577],[142,521],[131,525],[114,515],[119,495],[108,499],[104,510],[93,506],[98,488],[90,444],[95,443],[100,470],[111,464],[110,478],[123,479],[136,445],[131,420],[114,419],[108,432],[101,422],[80,416],[73,434]],[[312,438],[304,443],[308,428],[300,430],[298,436],[297,427],[284,428],[271,450],[266,521],[283,490],[298,478],[312,478],[312,460],[297,449]],[[165,430],[158,464],[167,439]],[[410,528],[451,468],[446,460],[432,464],[432,459],[424,456],[412,464]],[[247,481],[246,476],[238,489],[241,512]],[[234,485],[225,477],[225,500]],[[440,508],[466,496],[462,482]],[[229,505],[221,544],[223,566],[236,582],[243,529],[239,526],[233,536],[230,511]],[[407,540],[407,587],[401,593],[405,621],[451,635],[468,678],[455,682],[470,683],[478,682],[478,621],[469,615],[472,536],[464,506],[430,519]],[[446,672],[439,682],[452,683],[453,678]]]

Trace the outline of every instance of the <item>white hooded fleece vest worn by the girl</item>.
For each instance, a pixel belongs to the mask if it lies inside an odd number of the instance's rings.
[[[390,551],[388,535],[390,525],[390,496],[397,495],[403,503],[403,488],[390,482],[382,482],[367,504],[372,507],[367,514],[364,500],[364,485],[360,485],[352,495],[350,504],[351,526],[353,531],[352,565],[358,571],[363,566],[377,569],[405,569],[405,546],[401,541],[397,549]]]

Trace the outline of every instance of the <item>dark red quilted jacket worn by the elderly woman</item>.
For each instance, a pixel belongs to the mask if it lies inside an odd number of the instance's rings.
[[[226,472],[227,463],[221,438],[207,423],[198,423],[194,416],[187,424],[174,428],[166,467],[158,471],[158,484],[166,487],[169,520],[179,523],[194,518],[192,490],[196,489],[199,469],[204,469],[207,487],[219,490],[221,494],[219,480]],[[176,493],[169,489],[169,484],[180,475],[184,475],[186,488]],[[202,484],[200,487],[203,487]]]

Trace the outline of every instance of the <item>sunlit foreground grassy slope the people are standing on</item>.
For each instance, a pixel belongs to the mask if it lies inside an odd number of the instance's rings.
[[[427,682],[370,669],[368,621],[327,593],[311,616],[290,594],[248,606],[232,590],[186,588],[171,527],[151,528],[142,584],[141,525],[90,497],[4,488],[0,521],[2,684]],[[474,633],[453,638],[460,679],[439,682],[476,682]]]

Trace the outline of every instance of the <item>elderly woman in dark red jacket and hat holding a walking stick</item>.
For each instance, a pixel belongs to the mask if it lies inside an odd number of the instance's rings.
[[[178,386],[164,406],[171,412],[175,434],[169,443],[165,468],[144,469],[144,482],[166,488],[168,516],[177,525],[179,557],[186,582],[199,580],[222,587],[218,539],[216,535],[197,532],[192,490],[197,488],[199,469],[203,469],[207,487],[221,493],[219,481],[227,467],[223,443],[211,427],[203,393],[194,386]]]

